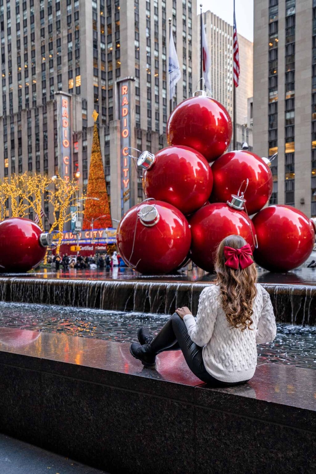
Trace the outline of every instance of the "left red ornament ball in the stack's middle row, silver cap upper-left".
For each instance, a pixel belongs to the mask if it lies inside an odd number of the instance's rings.
[[[199,209],[211,194],[211,168],[204,156],[188,146],[168,146],[156,155],[144,152],[138,164],[146,170],[146,197],[169,202],[184,214]]]

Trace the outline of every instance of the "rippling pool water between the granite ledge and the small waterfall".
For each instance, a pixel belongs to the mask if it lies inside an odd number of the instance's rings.
[[[116,342],[136,341],[139,326],[146,326],[155,334],[168,318],[147,313],[0,302],[0,326]],[[258,361],[316,369],[316,327],[277,326],[275,340],[258,346]]]

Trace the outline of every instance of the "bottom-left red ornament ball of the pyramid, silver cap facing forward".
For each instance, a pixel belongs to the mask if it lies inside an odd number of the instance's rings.
[[[132,207],[117,228],[119,254],[140,273],[171,272],[187,257],[190,243],[187,219],[163,201],[144,201]]]

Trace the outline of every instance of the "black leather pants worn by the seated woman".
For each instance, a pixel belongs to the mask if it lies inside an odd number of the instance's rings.
[[[247,380],[237,383],[221,382],[208,374],[203,362],[202,347],[197,346],[191,340],[183,319],[177,313],[174,313],[169,321],[166,322],[157,336],[153,338],[150,346],[156,354],[163,351],[181,349],[190,371],[212,387],[228,387],[248,382]]]

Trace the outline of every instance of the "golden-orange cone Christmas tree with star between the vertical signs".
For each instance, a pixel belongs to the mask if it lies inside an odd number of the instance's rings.
[[[83,217],[83,229],[90,229],[92,220],[93,228],[95,229],[112,227],[111,212],[108,204],[107,185],[105,182],[102,155],[100,150],[99,133],[97,124],[95,123],[96,118],[98,117],[96,111],[93,112],[92,117],[94,118],[94,129],[86,197],[98,198],[99,201],[94,199],[87,199],[85,201],[86,204]],[[104,217],[101,218],[101,216]]]

